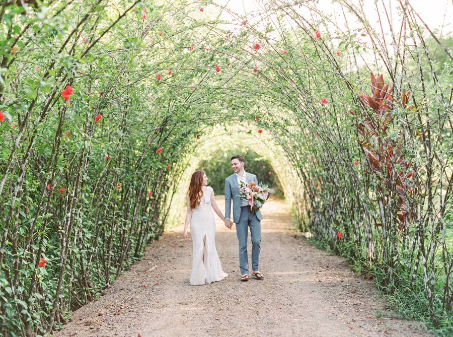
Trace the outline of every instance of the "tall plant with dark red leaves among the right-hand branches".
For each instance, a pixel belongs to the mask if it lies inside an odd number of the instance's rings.
[[[395,121],[395,101],[392,95],[393,87],[384,84],[383,75],[378,79],[371,73],[371,96],[362,94],[360,100],[369,109],[351,113],[360,118],[356,122],[358,143],[365,157],[368,159],[372,174],[381,181],[377,189],[381,194],[381,213],[389,210],[396,216],[398,229],[405,228],[405,221],[409,222],[407,200],[416,192],[414,187],[414,171],[412,164],[407,160],[404,140],[400,131],[390,127]],[[401,104],[405,108],[409,101],[410,92],[403,91]],[[381,214],[381,220],[386,217]],[[378,223],[382,226],[382,223]]]

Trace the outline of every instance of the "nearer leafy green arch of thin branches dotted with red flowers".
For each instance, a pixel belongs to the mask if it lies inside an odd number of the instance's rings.
[[[3,330],[49,333],[108,286],[162,232],[175,158],[200,128],[254,116],[292,164],[315,237],[448,321],[451,54],[436,38],[439,70],[424,23],[398,4],[400,29],[385,34],[388,15],[373,27],[349,1],[333,7],[358,28],[311,2],[263,2],[248,17],[220,7],[228,21],[184,2],[51,2],[40,15],[4,2]],[[370,94],[371,72],[386,74]]]

